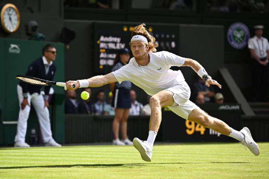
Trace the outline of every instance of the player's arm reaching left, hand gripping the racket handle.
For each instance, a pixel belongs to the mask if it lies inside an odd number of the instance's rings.
[[[84,80],[81,80],[81,81],[83,82]],[[88,87],[101,87],[105,84],[117,82],[117,79],[112,73],[108,73],[106,75],[98,75],[98,76],[91,77],[87,79],[87,81],[88,81]],[[75,84],[75,88],[72,87],[73,84]],[[66,82],[66,88],[68,90],[76,90],[77,88],[80,88],[80,87],[86,87],[86,86],[81,86],[79,80]]]

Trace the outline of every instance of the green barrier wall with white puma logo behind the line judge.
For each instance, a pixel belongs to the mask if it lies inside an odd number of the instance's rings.
[[[29,64],[36,58],[42,56],[42,47],[48,42],[28,41],[19,39],[0,38],[0,101],[2,104],[2,115],[0,131],[0,145],[11,145],[14,143],[19,113],[19,101],[17,96],[17,84],[15,76],[24,75]],[[54,81],[64,82],[64,44],[52,43],[57,49],[56,74]],[[54,139],[64,142],[64,89],[54,86],[54,100],[50,109],[50,119]],[[38,119],[34,108],[31,108],[27,122],[26,142],[30,140],[31,129],[36,129],[38,135]],[[39,137],[39,136],[38,136]]]

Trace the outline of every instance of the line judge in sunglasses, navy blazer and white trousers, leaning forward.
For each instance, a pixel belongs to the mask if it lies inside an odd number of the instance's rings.
[[[42,57],[37,58],[29,65],[25,75],[53,81],[56,66],[52,61],[54,61],[56,58],[56,48],[52,44],[46,44],[42,48],[42,54]],[[21,81],[17,85],[20,111],[14,147],[30,147],[27,143],[25,143],[27,120],[31,108],[30,104],[32,104],[36,110],[42,133],[42,140],[45,143],[45,146],[61,146],[52,138],[50,116],[48,111],[50,86],[45,87],[44,97],[42,94],[40,94],[40,90],[41,86],[31,85]]]

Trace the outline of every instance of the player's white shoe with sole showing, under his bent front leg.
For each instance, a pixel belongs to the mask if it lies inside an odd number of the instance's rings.
[[[139,138],[133,140],[135,148],[140,152],[142,159],[146,162],[151,161],[152,147],[148,141],[141,141]]]

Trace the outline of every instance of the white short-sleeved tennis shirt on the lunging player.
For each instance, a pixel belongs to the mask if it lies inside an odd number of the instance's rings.
[[[149,53],[149,56],[150,62],[145,66],[139,66],[133,57],[129,64],[112,74],[119,83],[132,81],[149,95],[155,95],[185,80],[180,70],[170,70],[171,66],[182,66],[185,58],[166,51]]]

